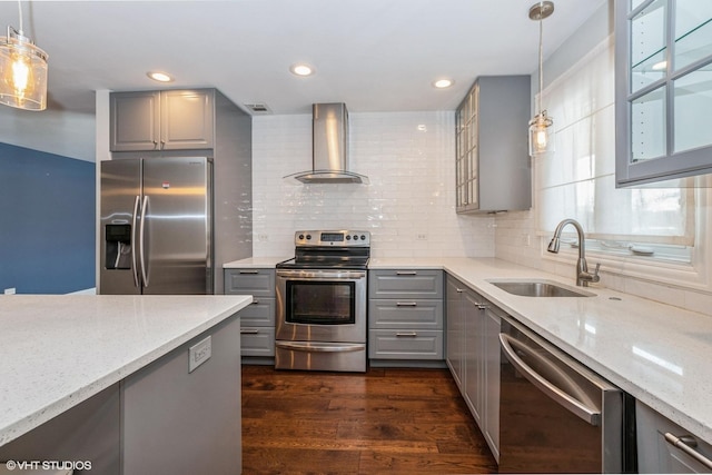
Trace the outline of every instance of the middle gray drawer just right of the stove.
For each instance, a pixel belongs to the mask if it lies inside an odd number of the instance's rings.
[[[368,327],[443,329],[443,300],[372,299]]]

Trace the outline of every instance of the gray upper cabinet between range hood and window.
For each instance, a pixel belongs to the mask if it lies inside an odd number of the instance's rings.
[[[479,77],[456,111],[456,210],[532,207],[528,76]]]

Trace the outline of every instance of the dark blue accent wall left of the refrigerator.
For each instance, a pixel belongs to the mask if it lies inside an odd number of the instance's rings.
[[[0,293],[96,287],[96,164],[0,144]]]

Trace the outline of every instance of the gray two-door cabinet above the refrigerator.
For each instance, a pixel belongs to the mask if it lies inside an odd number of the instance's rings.
[[[110,98],[111,151],[214,147],[214,90],[113,92]]]

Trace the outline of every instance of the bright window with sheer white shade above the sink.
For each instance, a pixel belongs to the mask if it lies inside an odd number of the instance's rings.
[[[535,162],[538,229],[574,218],[591,250],[690,263],[695,190],[615,188],[613,55],[610,38],[544,91],[556,151]]]

